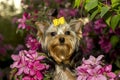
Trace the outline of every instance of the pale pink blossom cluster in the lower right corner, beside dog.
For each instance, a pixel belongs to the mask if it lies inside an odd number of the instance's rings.
[[[115,80],[112,65],[103,66],[102,58],[103,55],[97,58],[90,56],[87,60],[83,58],[82,65],[76,68],[77,80]]]

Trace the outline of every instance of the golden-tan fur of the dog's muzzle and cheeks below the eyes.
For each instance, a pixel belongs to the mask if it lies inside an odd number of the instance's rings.
[[[63,37],[65,38],[65,43],[60,44],[59,38]],[[49,42],[47,44],[48,51],[50,52],[50,55],[55,59],[56,62],[66,62],[71,57],[74,48],[76,39],[71,36],[65,36],[65,35],[59,35],[54,38],[47,38],[46,42]]]

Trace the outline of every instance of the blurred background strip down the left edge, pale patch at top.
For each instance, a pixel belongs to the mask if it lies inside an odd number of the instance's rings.
[[[23,47],[24,34],[16,34],[15,23],[21,12],[20,0],[0,0],[0,80],[7,80],[11,54]]]

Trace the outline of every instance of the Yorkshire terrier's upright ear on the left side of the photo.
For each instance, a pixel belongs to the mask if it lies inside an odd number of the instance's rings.
[[[45,36],[45,31],[49,27],[49,23],[48,22],[35,22],[35,25],[37,27],[37,37],[43,40]]]

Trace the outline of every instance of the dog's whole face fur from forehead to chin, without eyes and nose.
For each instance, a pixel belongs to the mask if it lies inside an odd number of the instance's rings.
[[[49,29],[44,42],[45,48],[57,63],[68,63],[77,42],[75,33],[70,30],[68,25],[59,28],[51,26]],[[65,35],[65,32],[68,30],[70,35]],[[51,32],[56,32],[56,36],[51,36]],[[65,39],[63,44],[59,42],[61,37]]]

